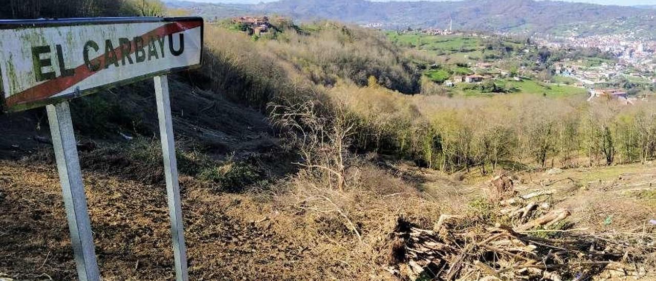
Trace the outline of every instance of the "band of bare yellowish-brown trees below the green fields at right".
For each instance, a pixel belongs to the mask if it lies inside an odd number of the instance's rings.
[[[653,102],[411,97],[348,83],[329,95],[357,116],[359,148],[400,154],[448,173],[644,163],[656,153]]]

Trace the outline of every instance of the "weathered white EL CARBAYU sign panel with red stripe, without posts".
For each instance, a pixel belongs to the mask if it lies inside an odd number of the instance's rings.
[[[202,18],[0,20],[5,111],[201,64]]]

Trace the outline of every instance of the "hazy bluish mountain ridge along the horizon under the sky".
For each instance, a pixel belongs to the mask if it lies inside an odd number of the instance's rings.
[[[210,5],[169,1],[176,7],[193,8],[208,18],[236,14],[281,14],[300,20],[319,18],[355,24],[382,24],[387,29],[446,28],[453,18],[458,30],[496,32],[548,31],[562,24],[597,22],[609,18],[653,14],[636,7],[533,0],[468,0],[371,2],[365,0],[282,0],[256,5]]]

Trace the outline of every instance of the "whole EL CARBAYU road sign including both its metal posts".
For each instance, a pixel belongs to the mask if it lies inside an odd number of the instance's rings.
[[[154,78],[177,281],[188,281],[167,74],[199,67],[202,18],[0,20],[0,105],[47,106],[79,280],[100,281],[68,100]]]

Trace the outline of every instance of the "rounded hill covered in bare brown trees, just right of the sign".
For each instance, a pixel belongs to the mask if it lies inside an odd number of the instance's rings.
[[[262,110],[276,98],[317,95],[317,86],[333,87],[338,81],[364,87],[372,76],[388,89],[420,91],[417,66],[379,33],[333,22],[281,26],[276,36],[256,41],[207,26],[199,74],[217,93]]]

